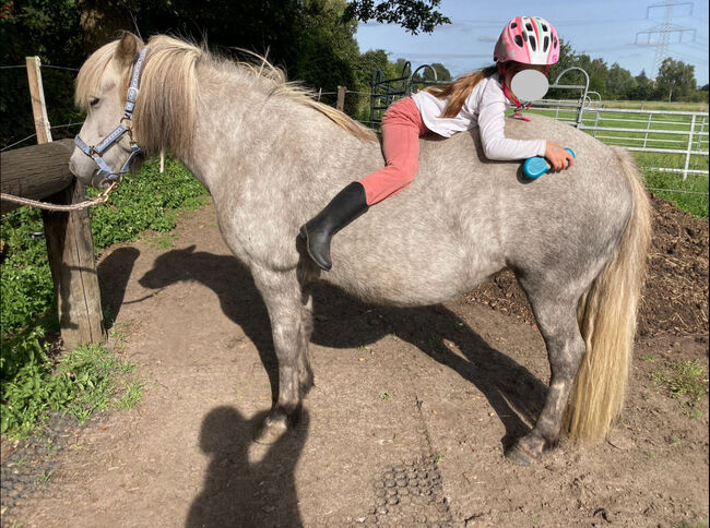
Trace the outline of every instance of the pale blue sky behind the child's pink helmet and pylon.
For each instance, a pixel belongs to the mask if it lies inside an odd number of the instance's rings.
[[[696,29],[671,35],[668,56],[695,65],[698,85],[708,82],[708,1],[677,0],[673,8],[674,26]],[[577,52],[592,58],[601,57],[608,65],[618,62],[638,75],[641,70],[655,76],[653,62],[656,47],[638,45],[637,33],[660,26],[665,8],[648,10],[663,0],[508,0],[507,2],[481,0],[442,0],[440,11],[451,19],[451,24],[437,27],[433,34],[407,34],[397,25],[360,23],[355,37],[362,52],[383,49],[390,60],[405,58],[414,68],[441,62],[452,73],[460,75],[493,62],[493,48],[502,26],[516,15],[539,15],[555,25],[560,36]],[[648,35],[638,40],[648,41]],[[659,38],[659,34],[651,37]]]

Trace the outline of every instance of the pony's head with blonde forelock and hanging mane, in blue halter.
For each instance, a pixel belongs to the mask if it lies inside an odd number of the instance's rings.
[[[131,156],[132,142],[149,154],[167,148],[181,156],[190,149],[197,106],[194,68],[202,50],[166,36],[151,38],[133,113],[126,120],[133,64],[144,46],[139,37],[125,33],[95,51],[79,72],[74,100],[86,112],[79,136],[88,146],[74,149],[69,167],[86,184],[108,187],[106,170],[98,170],[94,159],[94,148],[113,135],[119,123],[129,131],[100,152],[100,158],[114,173]]]

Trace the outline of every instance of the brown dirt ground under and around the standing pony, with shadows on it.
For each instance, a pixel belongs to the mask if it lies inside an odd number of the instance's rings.
[[[72,436],[2,526],[695,526],[708,519],[700,418],[654,386],[707,336],[641,340],[612,443],[502,457],[540,411],[537,331],[460,300],[427,309],[316,295],[316,388],[298,429],[251,443],[271,401],[265,309],[206,207],[100,260],[111,345],[141,364],[143,404]],[[265,367],[265,368],[264,368]],[[38,464],[44,464],[39,460]]]

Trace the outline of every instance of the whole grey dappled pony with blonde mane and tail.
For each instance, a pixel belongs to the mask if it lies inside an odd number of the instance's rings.
[[[76,103],[88,112],[80,132],[86,143],[117,125],[142,47],[126,34],[82,67]],[[648,197],[627,154],[552,119],[510,120],[509,137],[543,137],[577,154],[571,169],[525,182],[520,163],[483,157],[475,131],[425,137],[412,185],[340,232],[333,269],[322,273],[299,227],[383,165],[377,136],[265,61],[220,59],[167,36],[147,48],[133,139],[149,153],[173,152],[206,187],[225,242],[269,310],[279,395],[258,440],[279,437],[312,385],[316,280],[414,307],[454,299],[502,268],[530,299],[552,369],[537,422],[508,455],[529,464],[560,431],[578,441],[605,436],[623,407],[650,239]],[[123,136],[104,159],[120,167],[129,153]],[[79,149],[70,164],[80,180],[105,184]]]

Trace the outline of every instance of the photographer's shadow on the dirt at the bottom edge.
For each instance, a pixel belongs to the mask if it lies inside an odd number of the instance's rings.
[[[211,457],[210,468],[186,528],[303,526],[294,471],[308,435],[308,412],[304,409],[291,434],[250,463],[251,431],[265,416],[245,420],[236,409],[222,406],[204,418],[200,448]]]

